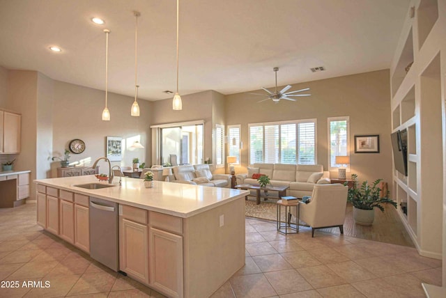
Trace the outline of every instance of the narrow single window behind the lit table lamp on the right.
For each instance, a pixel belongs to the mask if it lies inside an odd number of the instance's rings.
[[[335,171],[342,164],[336,164],[337,156],[350,155],[350,127],[349,118],[347,117],[332,117],[328,118],[328,143],[330,149],[328,150],[329,171]],[[347,165],[347,171],[350,171],[350,166]]]

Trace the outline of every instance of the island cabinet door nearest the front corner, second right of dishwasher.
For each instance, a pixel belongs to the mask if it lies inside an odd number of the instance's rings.
[[[183,237],[150,228],[150,285],[169,297],[183,297]]]

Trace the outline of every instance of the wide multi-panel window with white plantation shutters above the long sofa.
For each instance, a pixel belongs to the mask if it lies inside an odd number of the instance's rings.
[[[316,164],[316,119],[249,124],[249,164]]]

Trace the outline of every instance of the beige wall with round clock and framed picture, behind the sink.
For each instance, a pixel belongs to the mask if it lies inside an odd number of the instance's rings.
[[[105,107],[105,92],[54,81],[53,111],[53,156],[63,155],[72,139],[82,139],[86,149],[79,155],[72,154],[70,164],[91,166],[95,159],[104,157],[106,136],[123,137],[123,160],[112,165],[132,166],[132,159],[151,165],[150,125],[153,103],[139,100],[139,117],[130,116],[133,97],[108,94],[110,121],[102,121],[102,109]],[[129,148],[138,139],[145,148]],[[60,162],[53,162],[53,172]],[[100,163],[100,171],[108,172],[105,163]],[[53,173],[54,175],[54,173]]]

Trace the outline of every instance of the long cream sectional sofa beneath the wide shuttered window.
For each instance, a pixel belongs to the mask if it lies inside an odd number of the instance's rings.
[[[314,185],[330,184],[330,172],[323,171],[321,164],[254,164],[248,173],[236,175],[237,184],[259,184],[252,174],[268,175],[273,186],[289,186],[287,196],[302,198],[311,196]]]

